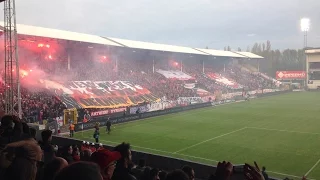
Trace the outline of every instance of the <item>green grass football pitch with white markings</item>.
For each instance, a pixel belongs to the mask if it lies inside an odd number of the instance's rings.
[[[75,135],[94,141],[93,130]],[[257,161],[270,176],[320,179],[320,93],[295,92],[100,129],[103,144],[216,165]]]

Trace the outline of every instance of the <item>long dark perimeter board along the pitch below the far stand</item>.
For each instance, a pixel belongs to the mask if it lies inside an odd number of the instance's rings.
[[[177,113],[177,112],[181,112],[181,111],[198,109],[198,108],[203,108],[203,107],[208,107],[208,106],[211,106],[211,103],[193,104],[193,105],[189,105],[189,106],[175,107],[175,108],[171,108],[171,109],[147,112],[147,113],[142,113],[142,114],[128,115],[128,116],[123,116],[123,117],[113,117],[110,119],[110,121],[112,124],[118,124],[118,123],[135,121],[138,119],[144,119],[144,118],[149,118],[149,117],[154,117],[154,116],[161,116],[161,115],[165,115],[165,114]],[[97,122],[100,123],[100,126],[106,125],[106,119],[99,118],[94,121],[90,121],[88,123],[76,124],[75,131],[82,131],[82,130],[94,128],[94,126],[96,125]]]

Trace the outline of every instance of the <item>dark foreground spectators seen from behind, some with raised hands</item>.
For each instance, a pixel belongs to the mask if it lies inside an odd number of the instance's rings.
[[[0,179],[2,180],[195,180],[196,172],[184,166],[163,171],[146,166],[141,159],[133,163],[131,146],[122,143],[113,150],[101,144],[83,142],[78,147],[53,145],[52,132],[41,132],[37,142],[36,131],[15,116],[3,116],[0,126]],[[229,162],[218,163],[209,180],[228,180],[233,173]],[[265,168],[260,170],[245,164],[244,176],[248,180],[267,180]]]

